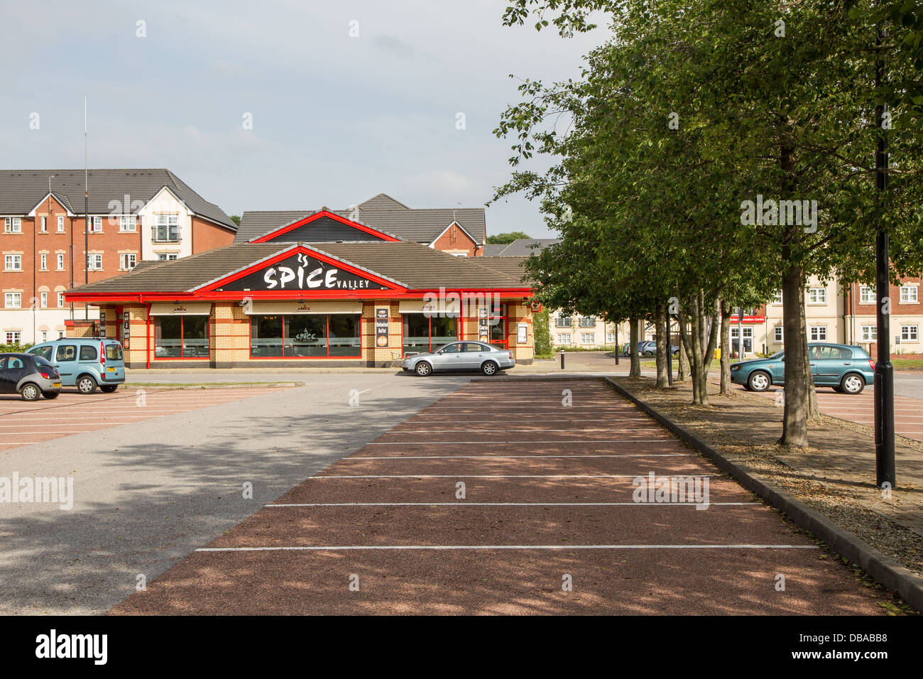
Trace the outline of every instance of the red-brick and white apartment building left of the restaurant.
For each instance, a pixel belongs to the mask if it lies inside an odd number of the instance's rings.
[[[42,342],[98,319],[95,307],[66,303],[75,285],[234,241],[231,218],[170,170],[95,169],[87,178],[83,170],[0,171],[0,341]]]

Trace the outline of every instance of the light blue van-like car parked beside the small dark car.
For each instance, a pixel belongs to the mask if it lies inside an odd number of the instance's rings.
[[[80,394],[92,394],[97,387],[112,394],[125,382],[125,355],[114,339],[66,337],[42,342],[29,353],[41,356],[57,368],[61,383],[76,386]]]

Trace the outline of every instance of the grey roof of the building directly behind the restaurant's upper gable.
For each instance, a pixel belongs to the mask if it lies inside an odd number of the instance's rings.
[[[271,231],[292,224],[319,210],[247,211],[241,217],[235,243],[265,236]],[[446,228],[457,222],[478,244],[486,234],[484,208],[408,208],[402,202],[379,193],[378,196],[359,203],[355,209],[332,210],[359,224],[365,224],[386,234],[415,243],[432,243]]]

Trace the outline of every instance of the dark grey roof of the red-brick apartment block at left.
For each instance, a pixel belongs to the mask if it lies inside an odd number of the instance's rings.
[[[83,170],[0,170],[0,214],[28,214],[48,195],[48,178],[52,175],[55,198],[71,212],[82,214]],[[90,170],[88,176],[90,214],[108,214],[112,212],[110,201],[124,201],[126,196],[129,203],[136,200],[147,203],[163,187],[167,187],[198,216],[237,230],[237,224],[220,207],[202,198],[170,170],[96,169]]]

